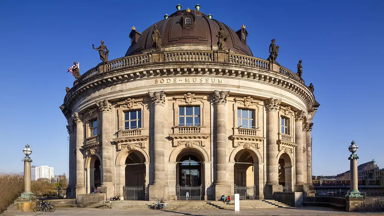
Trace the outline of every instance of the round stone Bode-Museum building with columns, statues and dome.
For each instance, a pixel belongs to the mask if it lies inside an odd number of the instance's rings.
[[[122,58],[79,71],[60,106],[70,134],[68,198],[273,199],[311,196],[313,85],[252,55],[245,26],[181,9],[139,32]],[[150,24],[150,23],[149,23]],[[102,39],[102,38],[101,38]],[[271,38],[272,39],[272,38]],[[113,52],[113,51],[111,51]],[[283,56],[279,56],[283,58]]]

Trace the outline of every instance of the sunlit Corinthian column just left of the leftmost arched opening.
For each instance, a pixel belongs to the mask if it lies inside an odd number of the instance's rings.
[[[83,115],[74,113],[72,115],[73,121],[76,124],[76,196],[84,194],[84,155],[81,151],[81,146],[84,143],[84,127]]]

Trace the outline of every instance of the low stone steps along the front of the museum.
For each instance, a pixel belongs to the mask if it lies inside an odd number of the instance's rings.
[[[118,200],[106,203],[105,208],[113,209],[154,209],[154,201],[137,201],[137,200]],[[235,205],[225,204],[220,201],[207,201],[207,200],[170,200],[166,203],[169,204],[168,210],[175,209],[234,209]],[[278,208],[278,207],[289,207],[289,205],[281,203],[275,200],[268,199],[243,199],[240,200],[240,208]],[[88,206],[88,208],[103,208],[103,202],[99,202]]]

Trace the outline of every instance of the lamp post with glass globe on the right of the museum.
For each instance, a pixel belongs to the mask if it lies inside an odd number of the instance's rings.
[[[358,151],[359,147],[356,145],[355,141],[352,140],[351,145],[349,146],[348,150],[352,153],[348,160],[351,161],[351,173],[350,173],[350,179],[351,179],[351,189],[349,191],[348,196],[349,197],[362,197],[362,194],[360,193],[358,189],[358,159],[359,156],[355,154],[356,151]]]

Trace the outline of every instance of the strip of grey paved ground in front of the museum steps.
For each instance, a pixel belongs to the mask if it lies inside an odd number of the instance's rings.
[[[251,216],[251,215],[384,215],[384,212],[349,213],[336,211],[331,208],[301,207],[301,208],[262,208],[240,209],[239,212],[223,209],[202,210],[151,210],[151,209],[92,209],[92,208],[59,208],[53,213],[18,213],[16,216]]]

